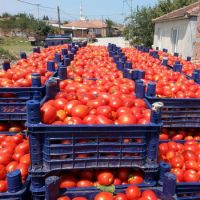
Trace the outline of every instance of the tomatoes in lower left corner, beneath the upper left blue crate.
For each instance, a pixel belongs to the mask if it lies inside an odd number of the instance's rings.
[[[19,169],[22,182],[26,181],[30,166],[29,141],[20,133],[22,130],[21,122],[0,123],[0,192],[7,191],[6,174],[9,172]]]

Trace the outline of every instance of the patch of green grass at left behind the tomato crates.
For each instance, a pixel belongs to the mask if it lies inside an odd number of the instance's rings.
[[[31,50],[32,47],[30,42],[24,38],[0,38],[0,57],[5,54],[5,56],[9,57],[10,59],[18,59],[20,51],[25,51],[27,54],[29,54]]]

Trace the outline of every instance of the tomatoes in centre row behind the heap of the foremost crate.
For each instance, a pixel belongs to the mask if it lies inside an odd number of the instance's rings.
[[[104,46],[87,46],[79,49],[67,68],[67,75],[71,78],[97,79],[105,75],[114,78],[122,77],[113,58],[109,57],[107,47]]]

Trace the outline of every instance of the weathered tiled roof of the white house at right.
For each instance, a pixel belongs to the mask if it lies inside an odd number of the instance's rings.
[[[178,10],[174,10],[166,15],[158,17],[153,20],[153,22],[163,22],[163,21],[171,21],[175,19],[180,19],[184,17],[197,16],[200,12],[200,1],[193,3],[189,6],[185,6]]]

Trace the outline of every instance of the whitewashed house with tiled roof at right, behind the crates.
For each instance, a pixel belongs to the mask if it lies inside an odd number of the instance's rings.
[[[153,47],[200,60],[200,2],[170,12],[155,22]]]

